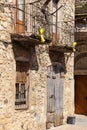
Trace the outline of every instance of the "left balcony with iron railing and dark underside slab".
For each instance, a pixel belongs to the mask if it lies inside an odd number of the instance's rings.
[[[50,44],[52,41],[52,16],[46,10],[41,11],[40,3],[28,3],[25,10],[16,8],[15,33],[11,34],[12,42],[22,46]],[[20,15],[20,16],[19,16]],[[19,20],[18,20],[19,18]],[[41,41],[40,28],[44,28],[45,42]]]

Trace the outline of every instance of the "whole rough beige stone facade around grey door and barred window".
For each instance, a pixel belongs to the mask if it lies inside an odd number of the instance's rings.
[[[65,68],[63,123],[74,114],[74,53],[35,45],[28,49],[12,43],[15,33],[15,0],[0,1],[0,130],[45,130],[47,121],[47,67],[61,63]],[[51,3],[50,3],[51,4]],[[74,0],[60,0],[59,45],[74,41]],[[52,45],[51,45],[52,46]],[[56,46],[57,47],[57,46]],[[16,62],[28,62],[28,105],[15,105]]]

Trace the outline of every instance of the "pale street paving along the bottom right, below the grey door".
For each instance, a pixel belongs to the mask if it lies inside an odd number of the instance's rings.
[[[48,130],[87,130],[86,126],[78,126],[78,125],[61,125],[59,127],[52,127]]]

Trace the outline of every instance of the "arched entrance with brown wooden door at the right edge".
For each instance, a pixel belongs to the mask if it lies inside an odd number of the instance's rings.
[[[87,115],[87,51],[75,55],[75,113]]]

